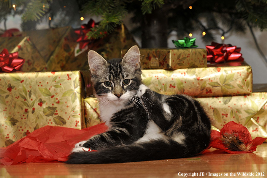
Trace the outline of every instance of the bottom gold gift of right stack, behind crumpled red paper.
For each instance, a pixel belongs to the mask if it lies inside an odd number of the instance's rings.
[[[253,92],[244,96],[197,98],[212,114],[221,129],[234,121],[248,128],[252,138],[267,137],[267,93]]]

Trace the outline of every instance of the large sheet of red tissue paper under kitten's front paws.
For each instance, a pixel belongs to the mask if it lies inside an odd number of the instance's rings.
[[[45,126],[35,130],[6,148],[0,148],[0,163],[66,161],[75,144],[107,130],[98,124],[82,130]]]

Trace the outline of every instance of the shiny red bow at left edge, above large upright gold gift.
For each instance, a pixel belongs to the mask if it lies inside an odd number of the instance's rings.
[[[0,69],[1,72],[12,72],[20,70],[21,66],[25,62],[25,59],[18,57],[18,52],[8,53],[7,49],[4,49],[0,53]]]

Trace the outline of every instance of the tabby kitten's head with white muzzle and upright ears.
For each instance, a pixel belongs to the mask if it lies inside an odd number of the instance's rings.
[[[88,63],[96,97],[103,101],[124,104],[133,98],[142,84],[137,46],[131,47],[123,59],[109,61],[95,51],[89,51]]]

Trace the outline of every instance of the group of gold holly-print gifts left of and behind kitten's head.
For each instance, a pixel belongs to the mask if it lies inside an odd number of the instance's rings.
[[[88,50],[74,56],[74,29],[62,27],[19,34],[0,37],[0,51],[18,51],[19,57],[25,59],[22,72],[0,73],[0,147],[46,125],[77,129],[89,125],[85,124],[83,101],[93,91]],[[120,49],[133,45],[136,42],[122,25],[104,39],[96,40],[90,49],[111,59],[120,57]]]

